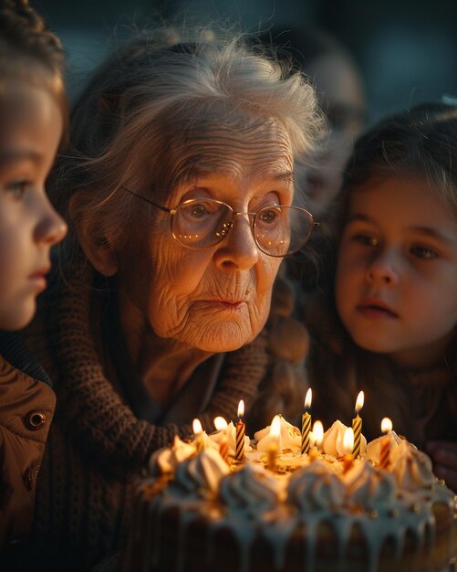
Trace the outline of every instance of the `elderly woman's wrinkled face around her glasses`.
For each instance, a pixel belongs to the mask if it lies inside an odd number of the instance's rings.
[[[290,205],[293,159],[286,132],[278,127],[227,127],[195,137],[178,148],[178,170],[192,164],[192,183],[168,199],[142,193],[174,208],[192,198],[213,198],[236,212]],[[119,252],[119,277],[131,312],[155,334],[208,352],[231,351],[251,341],[265,324],[281,259],[256,247],[249,218],[215,246],[187,249],[171,236],[169,213],[138,201],[133,238]]]

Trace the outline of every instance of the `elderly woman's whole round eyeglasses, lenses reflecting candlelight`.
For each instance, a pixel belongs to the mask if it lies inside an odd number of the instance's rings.
[[[171,215],[171,235],[186,249],[209,249],[225,238],[234,226],[234,217],[248,216],[255,244],[268,256],[282,258],[302,249],[314,227],[305,208],[272,205],[254,213],[237,213],[230,205],[213,198],[191,198],[178,207],[161,207],[145,196],[123,190]]]

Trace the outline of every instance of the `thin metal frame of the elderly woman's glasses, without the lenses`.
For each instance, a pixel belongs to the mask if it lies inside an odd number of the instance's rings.
[[[309,240],[309,238],[311,237],[311,234],[314,230],[315,227],[319,227],[320,223],[317,222],[313,215],[306,210],[306,208],[303,207],[296,207],[295,205],[275,205],[274,207],[287,207],[287,208],[296,208],[297,210],[301,210],[303,212],[305,212],[310,220],[311,220],[311,225],[310,225],[310,230],[308,232],[308,235],[306,237],[305,242],[302,244],[302,246],[300,247],[300,249],[296,249],[294,250],[294,252],[289,252],[288,254],[270,254],[269,252],[265,252],[265,250],[259,245],[259,243],[257,242],[257,238],[255,238],[255,233],[254,233],[254,224],[255,224],[255,217],[258,216],[258,213],[266,208],[269,207],[262,207],[259,208],[257,211],[255,211],[254,213],[252,212],[236,212],[230,205],[228,205],[227,203],[224,203],[223,201],[220,201],[217,198],[209,198],[209,199],[199,199],[199,198],[189,198],[187,200],[185,200],[183,203],[180,203],[177,207],[173,207],[173,208],[169,208],[169,207],[162,207],[161,205],[158,205],[157,203],[154,203],[154,201],[151,201],[150,198],[146,198],[146,196],[142,196],[142,195],[137,195],[137,193],[134,193],[133,191],[130,190],[130,188],[128,188],[125,185],[121,185],[122,190],[126,191],[127,193],[129,193],[132,196],[136,196],[137,198],[140,198],[141,200],[145,201],[146,203],[149,203],[150,205],[152,205],[152,207],[156,207],[159,208],[161,211],[168,213],[169,215],[171,215],[170,217],[170,231],[171,231],[171,236],[176,240],[176,242],[178,244],[180,244],[182,247],[184,247],[184,249],[190,249],[190,250],[205,250],[205,249],[211,249],[213,248],[213,246],[215,246],[216,244],[219,244],[220,242],[223,241],[223,239],[228,235],[228,233],[232,230],[233,226],[234,226],[234,217],[238,217],[240,215],[244,215],[244,216],[248,216],[248,217],[253,217],[252,220],[250,220],[250,227],[251,227],[251,231],[252,231],[252,235],[254,238],[254,242],[255,242],[255,246],[264,254],[266,254],[266,256],[271,256],[272,258],[275,259],[284,259],[288,256],[292,256],[293,254],[296,254],[296,252],[298,252],[298,250],[302,249],[307,241]],[[176,212],[178,211],[178,208],[182,207],[183,205],[185,205],[186,203],[190,203],[190,202],[194,202],[194,201],[199,201],[199,200],[211,200],[214,203],[218,203],[219,205],[223,205],[224,207],[229,207],[230,210],[232,211],[232,221],[231,221],[231,226],[230,228],[228,228],[228,230],[226,230],[225,232],[221,233],[221,238],[219,238],[216,242],[214,242],[214,244],[211,244],[207,247],[198,247],[198,248],[194,248],[192,246],[189,246],[187,244],[182,244],[182,242],[180,240],[178,240],[178,238],[176,237],[174,231],[173,231],[173,217],[176,214]]]

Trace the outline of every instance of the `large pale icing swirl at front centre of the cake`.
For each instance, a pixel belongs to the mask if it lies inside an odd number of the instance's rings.
[[[344,503],[345,487],[324,461],[315,461],[294,472],[287,498],[302,513],[339,511]]]

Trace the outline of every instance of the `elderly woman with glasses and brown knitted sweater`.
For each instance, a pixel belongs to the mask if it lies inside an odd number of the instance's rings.
[[[321,117],[300,75],[239,39],[140,37],[72,122],[52,185],[63,273],[29,342],[58,400],[36,535],[84,570],[121,543],[151,451],[252,407],[276,273],[314,226],[294,161]]]

